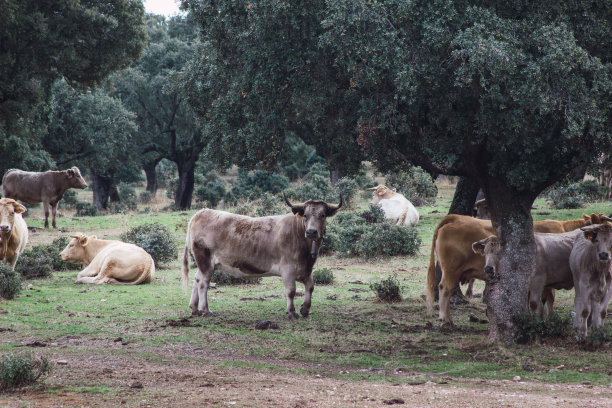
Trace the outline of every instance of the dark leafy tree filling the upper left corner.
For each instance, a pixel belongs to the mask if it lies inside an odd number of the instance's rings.
[[[142,2],[1,0],[0,10],[0,172],[46,170],[40,136],[53,83],[93,86],[138,58]]]

